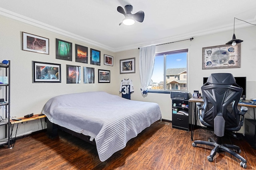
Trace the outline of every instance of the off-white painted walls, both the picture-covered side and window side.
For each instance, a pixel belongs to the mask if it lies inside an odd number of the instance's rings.
[[[11,109],[10,115],[16,117],[23,117],[28,113],[40,113],[42,107],[53,96],[60,94],[87,92],[87,91],[106,91],[110,94],[119,93],[120,82],[123,78],[130,78],[134,84],[134,93],[131,94],[132,100],[156,102],[160,105],[162,111],[162,118],[172,120],[171,116],[171,99],[170,94],[156,94],[148,93],[142,95],[140,88],[140,73],[139,73],[139,50],[133,49],[129,51],[122,51],[112,53],[90,44],[80,42],[75,39],[64,37],[20,21],[12,20],[10,18],[0,16],[0,60],[11,61]],[[50,39],[50,55],[40,53],[32,53],[22,51],[22,31],[34,35],[46,37]],[[86,31],[86,30],[85,30]],[[205,35],[194,37],[192,41],[182,41],[178,43],[171,43],[160,45],[156,47],[156,52],[172,51],[178,49],[188,49],[188,89],[192,93],[194,90],[200,90],[202,86],[203,77],[209,76],[213,72],[230,72],[234,76],[247,76],[247,97],[246,99],[256,98],[256,39],[255,26],[236,29],[236,37],[243,39],[241,44],[241,68],[230,69],[212,69],[202,70],[202,48],[216,45],[223,45],[232,38],[232,31],[216,33],[212,35]],[[72,42],[73,45],[73,61],[58,60],[55,56],[55,38]],[[91,65],[75,62],[74,45],[83,45],[101,51],[101,66]],[[104,65],[104,54],[114,57],[114,66]],[[120,59],[128,59],[136,57],[136,73],[135,74],[119,74]],[[61,83],[32,83],[32,61],[41,61],[48,63],[61,64],[62,82]],[[76,66],[88,66],[95,68],[95,84],[66,84],[66,64]],[[98,82],[98,69],[110,70],[110,83]],[[1,73],[1,70],[0,70]],[[82,80],[81,80],[82,82]],[[0,94],[2,92],[0,91]],[[253,111],[249,109],[249,113]],[[3,114],[3,109],[2,112]],[[246,115],[249,117],[249,114]],[[30,121],[21,125],[18,135],[37,131],[41,128],[40,121]],[[3,135],[3,127],[0,127],[0,138]]]

